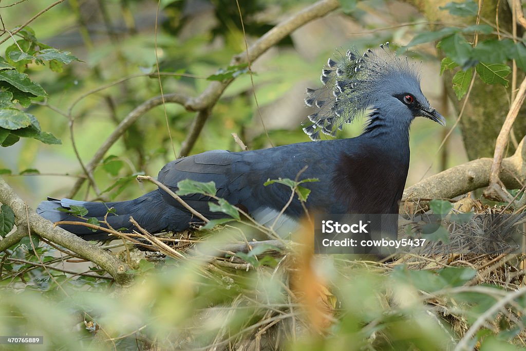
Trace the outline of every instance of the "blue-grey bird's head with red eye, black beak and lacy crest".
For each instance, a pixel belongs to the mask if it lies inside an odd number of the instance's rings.
[[[396,56],[388,45],[380,45],[378,53],[369,49],[359,55],[354,49],[340,54],[341,59],[329,58],[321,72],[323,87],[307,89],[305,98],[307,106],[317,108],[308,116],[312,124],[303,128],[312,140],[319,140],[320,132],[335,136],[343,124],[362,115],[407,126],[420,116],[445,124],[422,94],[416,65]]]

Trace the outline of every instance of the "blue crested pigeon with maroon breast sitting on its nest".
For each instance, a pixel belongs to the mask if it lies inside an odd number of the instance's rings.
[[[217,196],[244,209],[258,222],[270,226],[290,197],[290,188],[264,186],[267,179],[318,178],[303,184],[311,190],[309,211],[346,214],[398,214],[409,169],[409,127],[422,116],[445,124],[444,117],[422,94],[416,65],[389,51],[388,43],[377,51],[359,54],[356,49],[339,58],[329,58],[323,68],[319,89],[307,89],[305,103],[316,108],[308,116],[304,132],[316,142],[291,144],[245,152],[208,151],[176,159],[158,174],[159,182],[172,190],[184,179],[214,181]],[[320,133],[335,136],[338,129],[360,116],[367,118],[361,135],[347,139],[319,141]],[[210,198],[194,194],[181,196],[209,219],[226,217],[211,212]],[[134,219],[150,233],[180,232],[198,222],[164,190],[139,198],[110,203],[51,199],[39,204],[37,213],[51,222],[82,221],[60,212],[59,207],[84,206],[88,217],[104,219],[115,229],[135,227]],[[279,224],[295,223],[304,215],[297,198],[287,207]],[[93,232],[78,225],[62,225],[86,240],[107,240],[105,232]]]

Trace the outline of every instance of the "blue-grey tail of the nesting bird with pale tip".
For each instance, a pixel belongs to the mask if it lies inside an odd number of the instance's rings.
[[[107,227],[107,225],[102,223],[106,220],[113,229],[125,229],[126,232],[136,229],[129,222],[130,216],[133,216],[141,227],[151,233],[156,233],[167,227],[165,214],[155,210],[155,208],[160,207],[161,202],[162,197],[158,190],[134,200],[109,203],[85,202],[67,198],[58,200],[48,197],[47,201],[43,201],[38,205],[36,212],[53,223],[60,221],[86,223],[88,218],[95,217],[100,222],[101,227]],[[87,214],[83,213],[82,207],[75,206],[84,207],[87,210]],[[77,215],[73,213],[77,213]],[[61,224],[59,226],[85,240],[110,240],[116,238],[115,236],[109,236],[103,230],[95,230],[84,225]]]

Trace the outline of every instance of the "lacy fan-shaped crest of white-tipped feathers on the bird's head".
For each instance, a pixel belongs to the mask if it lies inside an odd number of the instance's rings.
[[[380,48],[378,52],[367,49],[363,54],[352,48],[345,55],[338,51],[339,57],[329,58],[321,71],[323,86],[307,88],[305,104],[315,107],[316,112],[307,116],[310,122],[305,122],[308,125],[303,131],[312,140],[319,140],[320,132],[335,136],[343,124],[365,114],[380,97],[381,87],[397,75],[409,74],[418,81],[416,69],[407,57],[396,56],[389,43]]]

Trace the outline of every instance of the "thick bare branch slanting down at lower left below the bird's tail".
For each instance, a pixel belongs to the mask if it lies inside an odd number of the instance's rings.
[[[2,178],[0,178],[0,202],[13,209],[17,226],[23,226],[24,223],[28,222],[30,229],[36,234],[64,246],[102,267],[120,286],[127,286],[133,280],[133,276],[126,273],[128,267],[102,248],[89,244],[60,227],[54,227],[49,220],[37,215],[31,208],[26,213],[24,201],[15,194],[13,189]]]

